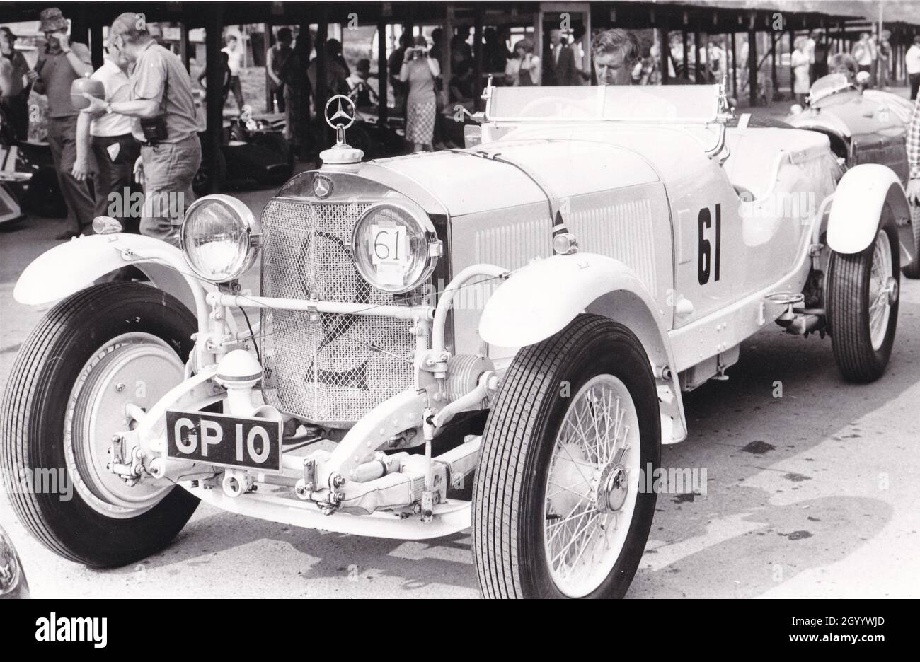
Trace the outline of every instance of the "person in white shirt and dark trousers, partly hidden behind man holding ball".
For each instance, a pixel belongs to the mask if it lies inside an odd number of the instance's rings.
[[[114,44],[109,44],[105,62],[90,76],[105,87],[107,102],[127,101],[131,98],[128,65],[122,52]],[[132,123],[132,118],[119,113],[94,116],[90,112],[81,112],[76,124],[76,159],[71,173],[79,181],[84,181],[90,177],[95,161],[95,215],[115,216],[121,221],[122,227],[127,227],[127,219],[118,212],[110,214],[109,209],[128,210],[130,200],[122,202],[109,198],[128,196],[131,188],[134,162],[141,154],[141,145],[132,136]],[[113,202],[119,204],[113,205]]]

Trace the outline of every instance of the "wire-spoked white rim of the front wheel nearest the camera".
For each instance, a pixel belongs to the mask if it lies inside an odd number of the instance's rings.
[[[619,558],[636,508],[639,451],[626,384],[609,374],[585,383],[559,428],[542,518],[549,574],[569,598],[598,588]]]

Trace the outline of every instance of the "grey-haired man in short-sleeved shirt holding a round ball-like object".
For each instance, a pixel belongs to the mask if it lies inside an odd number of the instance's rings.
[[[121,14],[109,30],[109,49],[134,63],[131,99],[107,102],[84,95],[93,113],[134,118],[132,134],[141,143],[134,177],[144,186],[141,234],[178,245],[178,229],[195,199],[191,180],[201,165],[191,79],[182,61],[155,42],[143,14]]]

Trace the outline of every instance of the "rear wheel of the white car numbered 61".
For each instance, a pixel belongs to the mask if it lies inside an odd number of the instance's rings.
[[[831,254],[828,325],[834,360],[847,381],[874,382],[891,358],[901,287],[898,241],[886,206],[872,245],[859,253]]]

